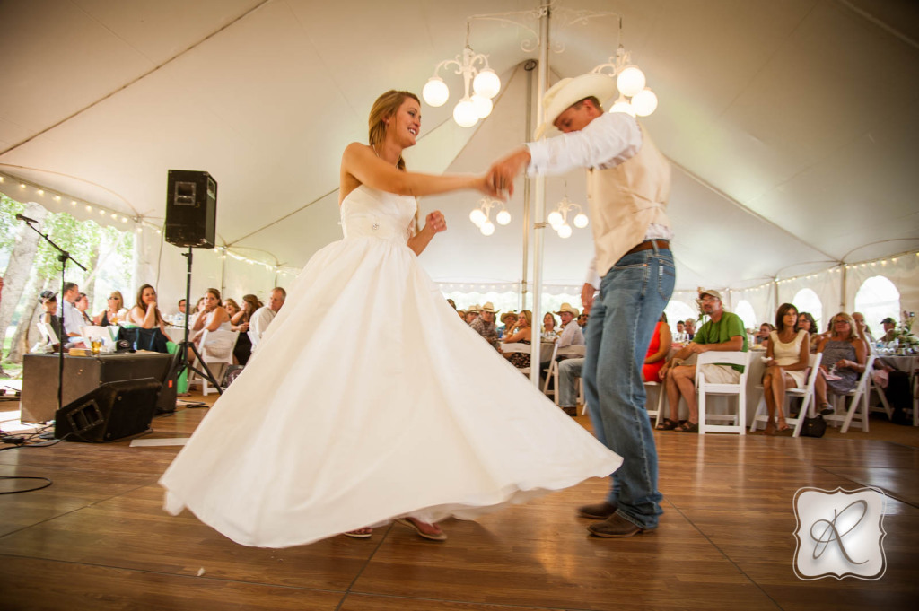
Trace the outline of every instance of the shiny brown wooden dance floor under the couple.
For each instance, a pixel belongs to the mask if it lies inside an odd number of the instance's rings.
[[[205,412],[156,418],[143,438],[189,436]],[[477,522],[450,520],[445,543],[393,525],[371,539],[246,548],[162,511],[156,481],[176,446],[6,450],[0,476],[53,484],[0,495],[0,609],[913,609],[919,444],[872,440],[882,424],[823,439],[656,433],[661,526],[627,539],[590,537],[574,515],[603,498],[607,481],[592,480]],[[886,574],[798,579],[795,492],[866,485],[890,497]]]

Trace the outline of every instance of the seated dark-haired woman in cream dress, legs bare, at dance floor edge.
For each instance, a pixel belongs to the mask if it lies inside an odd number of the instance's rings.
[[[803,329],[795,330],[798,310],[790,303],[778,306],[776,330],[769,334],[766,347],[766,373],[763,375],[763,397],[769,422],[766,435],[789,428],[785,423],[785,389],[801,389],[806,383],[811,340]]]

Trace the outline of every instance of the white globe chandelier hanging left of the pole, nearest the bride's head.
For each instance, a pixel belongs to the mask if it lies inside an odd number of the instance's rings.
[[[476,67],[476,63],[480,67]],[[492,98],[498,95],[501,90],[501,79],[494,70],[488,67],[488,56],[482,53],[472,51],[469,46],[469,23],[466,23],[466,47],[462,50],[462,55],[457,55],[454,60],[444,60],[437,64],[434,69],[434,76],[427,79],[425,88],[421,90],[421,96],[425,102],[432,107],[441,107],[447,103],[450,96],[450,90],[444,80],[437,76],[437,71],[447,66],[456,68],[455,74],[462,74],[463,78],[463,96],[457,105],[453,107],[453,120],[460,127],[471,128],[492,114]],[[472,85],[472,95],[469,93],[469,86]]]

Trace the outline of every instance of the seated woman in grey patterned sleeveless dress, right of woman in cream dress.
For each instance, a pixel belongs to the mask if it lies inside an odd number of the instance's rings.
[[[817,346],[817,352],[823,353],[823,360],[814,382],[814,393],[818,404],[823,406],[823,413],[833,413],[827,390],[842,394],[855,389],[868,359],[868,347],[858,336],[856,322],[851,316],[841,311],[830,324],[833,334],[823,338]]]

